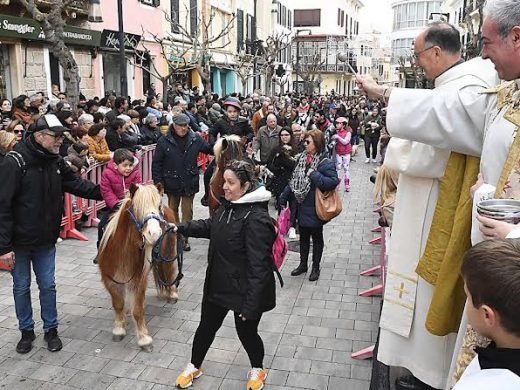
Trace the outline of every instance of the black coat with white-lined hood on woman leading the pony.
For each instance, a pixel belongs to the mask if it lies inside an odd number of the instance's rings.
[[[188,237],[210,239],[203,299],[247,319],[276,306],[270,196],[260,187],[244,195],[244,203],[224,201],[212,218],[178,226]]]

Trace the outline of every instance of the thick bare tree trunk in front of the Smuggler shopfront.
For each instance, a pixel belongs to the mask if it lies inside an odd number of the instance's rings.
[[[79,102],[79,83],[81,77],[79,76],[78,64],[64,43],[63,34],[65,27],[63,14],[67,7],[71,6],[75,1],[54,0],[46,3],[45,7],[49,9],[48,12],[43,12],[35,0],[18,1],[34,20],[41,23],[43,33],[49,43],[49,50],[63,68],[63,79],[65,81],[69,103],[72,107],[76,107]]]

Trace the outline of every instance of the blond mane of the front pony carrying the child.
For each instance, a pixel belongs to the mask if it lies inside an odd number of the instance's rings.
[[[135,217],[138,220],[140,220],[146,214],[153,212],[157,213],[158,208],[161,204],[161,194],[159,193],[157,188],[152,184],[138,185],[138,188],[135,191],[132,199],[124,199],[119,210],[117,210],[114,213],[114,215],[112,215],[112,217],[110,218],[110,221],[105,227],[103,237],[101,238],[99,250],[103,249],[108,240],[114,236],[117,230],[117,226],[119,224],[119,219],[121,218],[121,215],[128,210],[128,207],[130,207],[128,206],[128,203],[130,202],[132,203],[131,206],[133,208]]]

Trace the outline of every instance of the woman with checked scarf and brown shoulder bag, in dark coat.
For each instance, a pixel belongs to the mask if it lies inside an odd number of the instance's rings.
[[[298,202],[298,225],[300,227],[300,265],[291,272],[292,276],[307,272],[312,237],[311,282],[320,277],[320,262],[323,255],[323,225],[326,223],[316,214],[316,188],[330,191],[339,184],[336,166],[326,157],[325,137],[320,130],[305,134],[305,151],[298,157],[289,185],[280,196],[280,204],[287,204],[293,195]]]

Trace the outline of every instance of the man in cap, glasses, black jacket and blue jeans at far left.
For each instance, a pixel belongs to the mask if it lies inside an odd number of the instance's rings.
[[[56,241],[63,215],[63,193],[102,200],[99,186],[76,176],[59,156],[63,132],[54,115],[29,127],[0,166],[0,262],[13,267],[13,295],[22,338],[16,346],[27,353],[35,339],[31,306],[31,266],[40,290],[41,317],[49,351],[62,348],[58,337]]]

